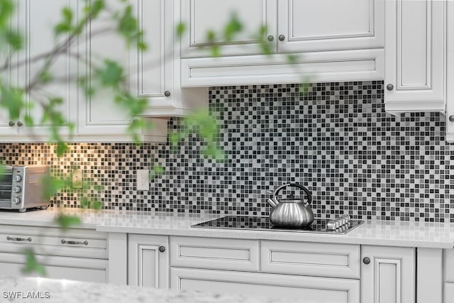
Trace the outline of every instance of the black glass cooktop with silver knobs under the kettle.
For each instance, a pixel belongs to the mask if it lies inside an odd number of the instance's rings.
[[[197,228],[228,228],[228,229],[253,229],[266,231],[295,231],[300,233],[338,233],[345,234],[362,224],[363,221],[350,221],[348,224],[330,230],[327,227],[328,219],[315,219],[310,226],[286,227],[274,226],[267,216],[224,216],[211,221],[194,224]]]

